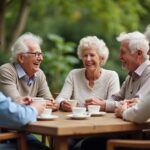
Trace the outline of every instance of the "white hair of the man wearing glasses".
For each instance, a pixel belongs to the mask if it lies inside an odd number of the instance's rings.
[[[39,45],[42,44],[42,39],[37,35],[34,35],[30,32],[21,35],[11,47],[11,59],[10,60],[12,62],[17,62],[18,54],[26,53],[29,51],[26,41],[32,41]]]

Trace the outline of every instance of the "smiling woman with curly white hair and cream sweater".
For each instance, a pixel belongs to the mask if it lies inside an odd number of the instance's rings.
[[[108,99],[119,91],[119,77],[115,71],[106,70],[109,50],[103,40],[96,36],[87,36],[80,40],[78,57],[84,68],[73,69],[56,98],[63,111],[72,111],[68,99],[78,100],[78,106],[95,104],[99,99]]]

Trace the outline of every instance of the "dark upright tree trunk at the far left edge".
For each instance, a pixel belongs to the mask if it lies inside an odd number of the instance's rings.
[[[0,1],[0,49],[4,50],[5,46],[5,10],[7,0]]]

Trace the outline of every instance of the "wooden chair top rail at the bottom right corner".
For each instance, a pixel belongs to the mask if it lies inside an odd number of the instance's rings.
[[[141,148],[150,149],[150,140],[120,140],[113,139],[107,141],[107,150],[115,150],[119,148]]]

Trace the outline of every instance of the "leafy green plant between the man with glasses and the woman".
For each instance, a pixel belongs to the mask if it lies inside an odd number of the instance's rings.
[[[48,34],[47,38],[49,48],[44,51],[41,67],[47,76],[51,91],[59,92],[68,72],[78,63],[78,59],[72,54],[75,43],[65,42],[56,34]]]

